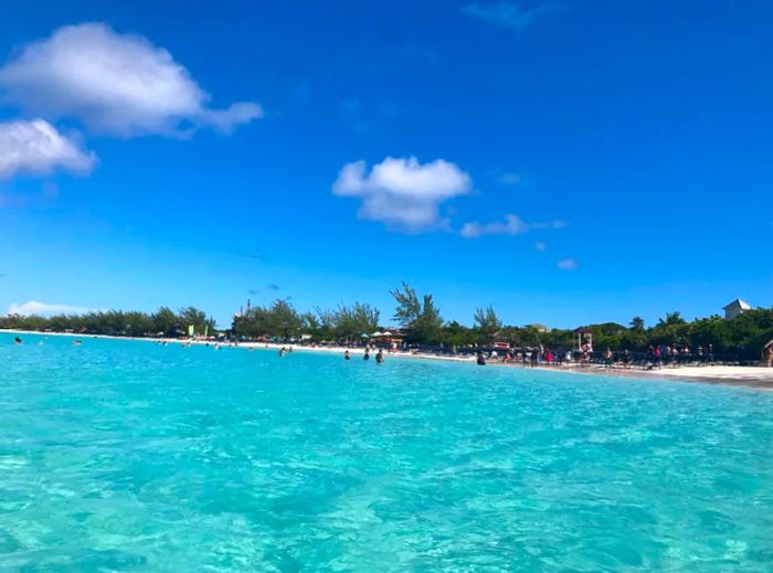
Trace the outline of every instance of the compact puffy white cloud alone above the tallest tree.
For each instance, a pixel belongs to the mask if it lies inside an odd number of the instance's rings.
[[[416,232],[440,225],[441,204],[470,189],[469,176],[452,162],[422,165],[415,157],[388,157],[370,173],[364,161],[343,166],[332,191],[361,199],[362,219]]]

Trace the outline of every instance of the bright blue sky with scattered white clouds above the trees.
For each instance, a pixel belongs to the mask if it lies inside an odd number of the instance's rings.
[[[773,306],[773,3],[12,2],[0,314]]]

